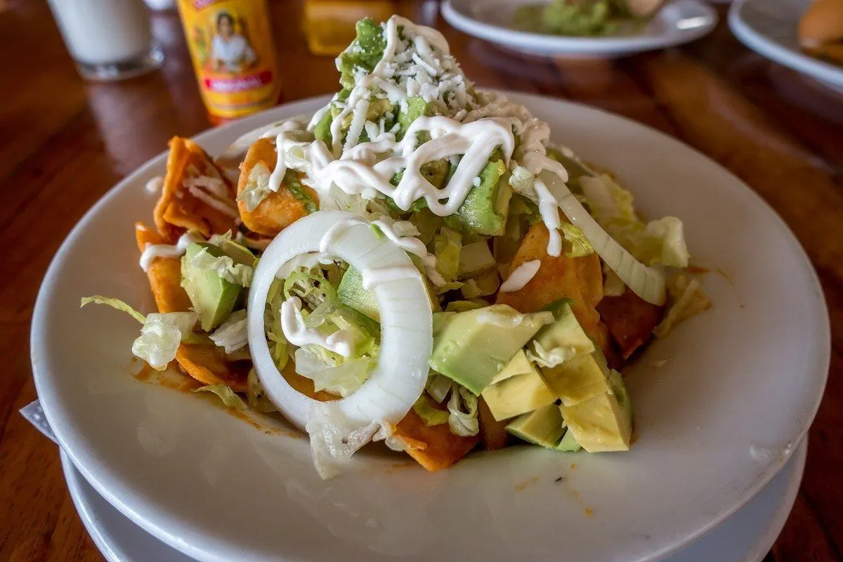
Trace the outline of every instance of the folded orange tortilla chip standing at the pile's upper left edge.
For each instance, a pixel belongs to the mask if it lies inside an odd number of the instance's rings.
[[[205,238],[239,224],[234,186],[196,142],[169,141],[167,175],[155,206],[155,226],[167,244],[180,233],[197,230]]]

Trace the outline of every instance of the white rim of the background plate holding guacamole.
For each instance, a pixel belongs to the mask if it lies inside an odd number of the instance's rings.
[[[720,19],[717,10],[711,8],[710,5],[700,2],[700,0],[683,0],[685,3],[695,4],[696,7],[706,12],[711,21],[699,28],[684,30],[683,35],[674,40],[668,40],[664,34],[620,37],[566,37],[564,35],[531,33],[519,29],[510,29],[472,18],[469,14],[463,13],[454,6],[454,3],[462,1],[464,0],[444,0],[440,7],[443,19],[455,29],[459,29],[466,35],[503,45],[510,49],[544,56],[624,56],[674,45],[683,45],[711,33]]]

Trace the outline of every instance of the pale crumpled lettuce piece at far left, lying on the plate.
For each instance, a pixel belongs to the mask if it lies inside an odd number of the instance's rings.
[[[150,367],[164,371],[198,320],[196,313],[152,313],[143,323],[141,335],[132,343],[132,353]]]

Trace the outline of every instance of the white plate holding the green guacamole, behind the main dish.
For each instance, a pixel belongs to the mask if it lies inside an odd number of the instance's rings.
[[[545,0],[546,1],[546,0]],[[445,0],[443,18],[455,28],[515,51],[541,56],[616,57],[682,45],[708,35],[717,12],[698,0],[674,0],[634,35],[564,37],[512,29],[515,10],[542,0]]]

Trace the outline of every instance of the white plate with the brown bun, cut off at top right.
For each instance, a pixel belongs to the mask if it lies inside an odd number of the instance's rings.
[[[843,68],[799,49],[797,26],[812,0],[736,0],[729,27],[753,51],[831,88],[843,90]]]

